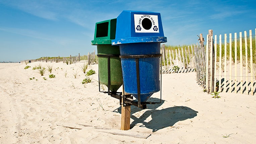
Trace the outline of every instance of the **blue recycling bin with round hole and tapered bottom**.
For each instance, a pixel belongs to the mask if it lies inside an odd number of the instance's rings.
[[[119,45],[126,93],[145,102],[160,90],[159,57],[164,36],[160,13],[123,11],[117,17],[116,38]]]

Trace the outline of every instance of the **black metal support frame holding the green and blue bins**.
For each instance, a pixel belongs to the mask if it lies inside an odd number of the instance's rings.
[[[136,107],[146,109],[147,104],[157,104],[162,103],[162,54],[148,54],[148,55],[125,55],[125,56],[119,56],[119,55],[112,55],[112,54],[98,54],[98,57],[107,57],[108,58],[108,91],[101,91],[100,87],[100,74],[99,76],[99,92],[108,93],[111,97],[114,97],[116,99],[119,99],[120,105],[123,104],[123,106],[130,106],[134,105]],[[133,100],[133,96],[131,94],[124,95],[122,92],[110,92],[110,85],[111,85],[111,77],[110,77],[110,58],[111,57],[120,57],[120,58],[135,58],[136,62],[136,78],[137,78],[137,93],[138,93],[138,101]],[[139,59],[140,58],[150,58],[150,57],[159,57],[160,59],[160,102],[140,102],[140,75],[139,75]],[[99,70],[98,70],[99,71]],[[123,75],[122,75],[123,76]],[[123,80],[123,77],[122,77]],[[124,83],[123,83],[124,88]],[[123,98],[123,101],[122,101]]]

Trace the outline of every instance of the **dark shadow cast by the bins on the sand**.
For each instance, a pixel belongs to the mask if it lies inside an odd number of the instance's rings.
[[[149,101],[160,101],[158,98],[150,98]],[[161,110],[156,110],[157,107],[161,106],[164,103],[154,104],[154,105],[147,105],[147,111],[144,112],[139,118],[133,116],[132,114],[141,111],[142,109],[137,108],[135,106],[131,106],[131,118],[134,120],[131,123],[131,128],[133,128],[136,124],[141,123],[140,127],[146,127],[152,129],[153,132],[163,129],[169,126],[173,126],[178,121],[183,121],[186,119],[194,118],[197,116],[197,111],[186,107],[186,106],[174,106],[170,108],[165,108]],[[117,109],[121,113],[121,107]],[[147,117],[151,115],[152,120],[149,122],[144,122]]]

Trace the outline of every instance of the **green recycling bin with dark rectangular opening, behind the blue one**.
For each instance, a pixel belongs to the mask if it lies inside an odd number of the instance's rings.
[[[97,45],[99,62],[99,83],[108,87],[108,92],[116,93],[122,85],[122,69],[119,46],[112,46],[115,39],[117,19],[110,19],[95,24],[94,40]],[[99,86],[100,90],[100,86]]]

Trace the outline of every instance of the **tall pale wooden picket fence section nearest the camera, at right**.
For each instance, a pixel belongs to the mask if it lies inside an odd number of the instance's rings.
[[[256,34],[256,29],[255,29]],[[208,93],[235,92],[254,95],[256,92],[256,37],[249,30],[214,35],[209,30],[206,47],[203,41],[196,50],[197,82]],[[224,40],[224,43],[223,43]]]

